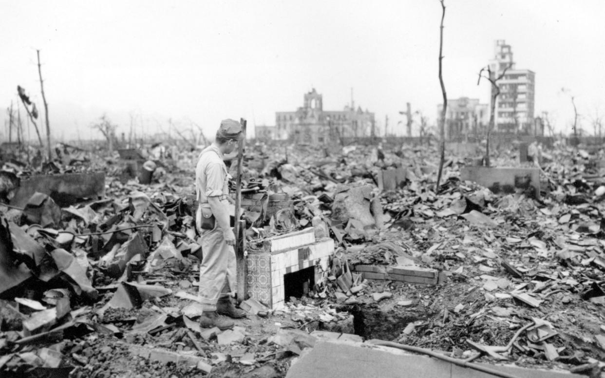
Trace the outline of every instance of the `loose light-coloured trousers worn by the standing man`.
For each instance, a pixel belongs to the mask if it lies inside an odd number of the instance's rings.
[[[227,246],[217,226],[201,232],[200,292],[204,311],[216,311],[220,296],[229,296],[237,288],[235,250]]]

